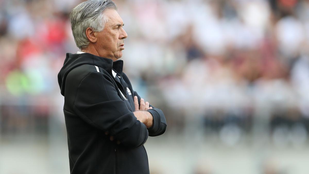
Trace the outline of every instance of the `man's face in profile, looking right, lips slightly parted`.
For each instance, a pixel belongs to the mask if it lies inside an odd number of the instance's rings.
[[[128,35],[123,29],[123,21],[116,10],[107,9],[104,14],[108,21],[105,23],[104,30],[97,32],[96,50],[101,57],[116,61],[122,57],[122,50],[125,49],[124,39]]]

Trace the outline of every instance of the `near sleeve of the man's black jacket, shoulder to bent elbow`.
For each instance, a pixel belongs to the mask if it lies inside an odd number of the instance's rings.
[[[116,88],[108,75],[90,72],[78,86],[73,110],[88,124],[108,131],[120,145],[141,146],[147,140],[147,128],[128,109]]]

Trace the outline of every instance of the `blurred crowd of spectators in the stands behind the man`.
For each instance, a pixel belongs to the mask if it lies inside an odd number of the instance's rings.
[[[68,15],[79,2],[0,0],[2,133],[45,130],[62,107],[57,73],[78,51]],[[115,2],[128,33],[124,72],[170,130],[198,120],[233,144],[261,123],[279,144],[307,141],[309,0]]]

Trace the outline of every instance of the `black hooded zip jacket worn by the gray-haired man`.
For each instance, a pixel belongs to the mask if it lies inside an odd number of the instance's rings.
[[[138,94],[122,67],[122,60],[66,54],[58,83],[65,100],[71,174],[149,174],[143,144],[148,136],[165,132],[166,120],[155,107],[148,110],[153,127],[136,119],[133,97]]]

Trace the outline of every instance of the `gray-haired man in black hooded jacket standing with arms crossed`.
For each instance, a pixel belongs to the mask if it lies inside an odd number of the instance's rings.
[[[58,74],[72,174],[147,174],[143,144],[165,132],[163,112],[140,98],[118,60],[127,33],[110,0],[75,7],[70,23],[77,54]]]

